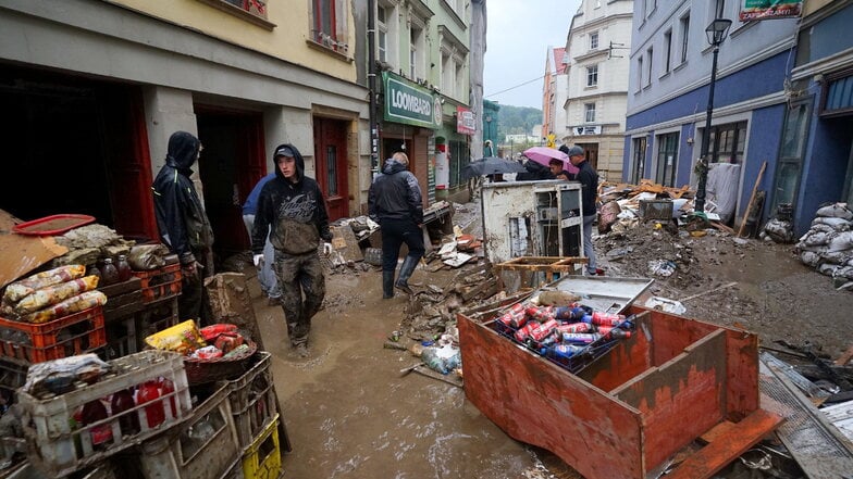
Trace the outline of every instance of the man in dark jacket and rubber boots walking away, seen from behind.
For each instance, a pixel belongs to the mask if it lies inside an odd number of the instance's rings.
[[[394,288],[412,294],[409,278],[423,257],[423,203],[418,178],[407,168],[409,157],[397,152],[373,179],[368,192],[368,215],[382,232],[382,298],[394,298]],[[396,282],[394,274],[403,243],[409,253],[403,261]]]

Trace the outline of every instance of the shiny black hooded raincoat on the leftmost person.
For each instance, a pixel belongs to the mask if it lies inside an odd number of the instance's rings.
[[[160,240],[177,254],[181,264],[203,261],[196,255],[213,245],[210,220],[190,179],[190,166],[198,157],[200,146],[201,142],[191,134],[172,134],[165,165],[151,186]]]

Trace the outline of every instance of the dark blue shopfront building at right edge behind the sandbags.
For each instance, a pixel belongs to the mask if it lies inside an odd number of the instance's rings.
[[[791,99],[770,177],[770,211],[790,203],[796,236],[831,202],[853,203],[853,1],[803,5]]]

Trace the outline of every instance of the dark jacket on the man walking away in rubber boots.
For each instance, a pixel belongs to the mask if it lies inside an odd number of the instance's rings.
[[[368,215],[380,225],[386,219],[423,224],[421,187],[406,165],[394,159],[385,160],[382,174],[373,179],[368,191]]]

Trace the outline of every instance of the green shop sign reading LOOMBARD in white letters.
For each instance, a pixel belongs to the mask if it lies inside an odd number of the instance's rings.
[[[441,103],[426,88],[391,72],[382,72],[385,89],[385,121],[437,128],[441,126]]]

